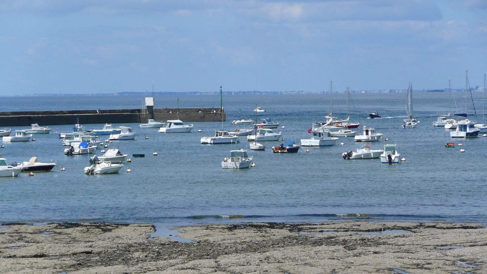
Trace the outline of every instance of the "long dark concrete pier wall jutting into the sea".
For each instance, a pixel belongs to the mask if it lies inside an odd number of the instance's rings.
[[[225,121],[225,113],[212,113],[211,109],[154,109],[156,121],[180,119],[183,122]],[[80,124],[104,123],[145,123],[148,119],[147,111],[143,109],[76,110],[76,111],[21,111],[0,112],[0,128],[8,126],[30,126],[31,124],[66,125],[75,124],[79,118]]]

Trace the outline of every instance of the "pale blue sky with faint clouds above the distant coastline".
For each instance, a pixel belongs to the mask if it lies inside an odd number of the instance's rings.
[[[487,0],[0,0],[0,95],[484,85]]]

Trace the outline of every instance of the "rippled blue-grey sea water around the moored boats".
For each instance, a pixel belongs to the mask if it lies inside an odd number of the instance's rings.
[[[333,95],[333,114],[345,118],[345,95]],[[135,140],[114,141],[131,163],[115,175],[83,173],[92,155],[65,156],[54,132],[70,132],[73,125],[53,125],[36,141],[3,143],[7,162],[57,161],[66,171],[21,174],[0,178],[0,222],[106,221],[178,226],[235,221],[318,222],[334,219],[452,221],[487,223],[487,137],[452,140],[449,131],[431,122],[449,112],[448,93],[414,93],[415,129],[401,128],[406,94],[353,94],[352,122],[374,127],[389,141],[369,143],[381,149],[397,144],[406,162],[381,164],[379,159],[343,160],[341,154],[359,148],[353,138],[332,147],[309,148],[309,153],[273,154],[250,151],[255,168],[223,170],[221,161],[239,144],[201,145],[200,138],[222,128],[218,122],[194,122],[194,132],[162,134],[130,126]],[[483,94],[474,93],[477,118],[482,122]],[[177,107],[178,96],[156,97],[156,108]],[[456,93],[459,112],[465,95]],[[144,97],[1,97],[0,111],[140,108]],[[181,108],[220,106],[219,96],[179,96]],[[224,96],[225,129],[234,119],[255,118],[256,103],[280,121],[286,140],[309,138],[307,130],[330,109],[330,95]],[[452,100],[452,110],[455,104]],[[239,113],[239,110],[242,113]],[[382,119],[368,119],[379,111]],[[468,113],[473,114],[471,100]],[[470,116],[469,116],[470,117]],[[114,124],[120,126],[122,124]],[[49,126],[49,125],[42,125]],[[101,124],[85,124],[101,129]],[[25,129],[27,127],[14,127]],[[201,133],[197,130],[201,129]],[[149,137],[148,140],[144,137]],[[106,137],[100,137],[102,141]],[[460,148],[445,148],[453,141]],[[265,142],[270,148],[281,142]],[[99,155],[100,149],[97,149]],[[158,156],[152,156],[157,152]],[[145,158],[131,154],[144,153]]]

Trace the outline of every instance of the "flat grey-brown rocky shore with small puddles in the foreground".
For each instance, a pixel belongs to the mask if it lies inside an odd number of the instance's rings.
[[[4,224],[0,273],[486,274],[483,227],[242,223],[178,228],[179,236],[194,241],[183,243],[151,238],[151,224]]]

